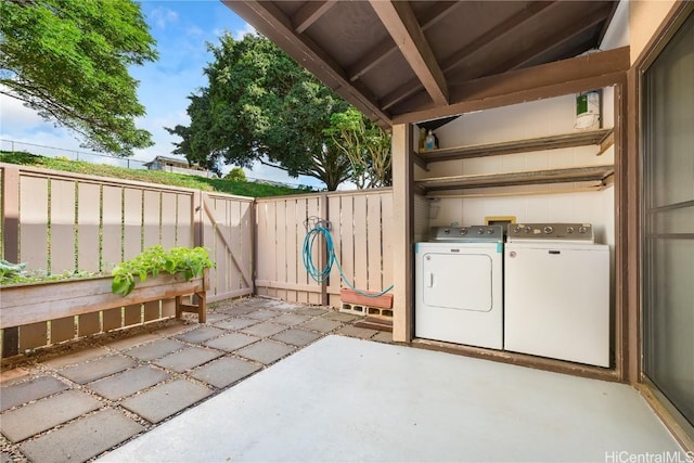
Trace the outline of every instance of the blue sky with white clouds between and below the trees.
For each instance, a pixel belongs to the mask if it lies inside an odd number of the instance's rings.
[[[185,113],[188,95],[207,85],[203,67],[211,61],[206,43],[218,43],[228,31],[241,39],[255,30],[218,0],[179,0],[141,2],[142,13],[150,25],[150,33],[157,41],[159,60],[130,69],[140,81],[138,95],[146,108],[146,117],[137,121],[139,128],[149,130],[154,146],[136,151],[133,159],[151,160],[156,155],[171,156],[172,142],[180,139],[170,136],[164,127],[188,125]],[[0,139],[34,143],[65,150],[85,151],[69,130],[44,123],[33,111],[13,99],[0,95]],[[256,164],[248,177],[322,185],[310,177],[291,178],[280,169]]]

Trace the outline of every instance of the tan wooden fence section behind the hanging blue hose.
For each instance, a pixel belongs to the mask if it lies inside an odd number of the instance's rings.
[[[303,263],[307,224],[330,221],[335,256],[357,288],[378,292],[393,283],[393,191],[365,190],[258,198],[257,294],[284,300],[339,307],[347,287],[333,266],[325,284],[313,281]],[[314,265],[325,249],[313,249]]]

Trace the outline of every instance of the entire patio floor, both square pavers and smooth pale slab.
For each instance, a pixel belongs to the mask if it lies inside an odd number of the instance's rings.
[[[686,461],[629,386],[388,345],[356,320],[249,298],[46,352],[0,376],[0,462]]]

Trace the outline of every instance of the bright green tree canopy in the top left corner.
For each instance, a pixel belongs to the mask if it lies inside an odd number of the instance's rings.
[[[0,92],[75,130],[85,147],[128,156],[152,145],[128,67],[155,61],[131,0],[0,0]]]

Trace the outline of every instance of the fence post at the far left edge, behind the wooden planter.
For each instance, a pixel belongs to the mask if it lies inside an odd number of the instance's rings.
[[[15,166],[2,168],[2,211],[3,258],[18,263],[20,168]],[[2,357],[13,357],[17,353],[20,353],[20,329],[17,326],[5,329],[2,334]]]

